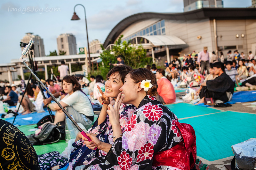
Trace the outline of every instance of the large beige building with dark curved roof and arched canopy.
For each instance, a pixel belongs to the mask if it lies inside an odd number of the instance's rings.
[[[256,8],[201,8],[182,13],[143,12],[120,21],[108,34],[103,46],[111,48],[122,41],[142,42],[153,57],[183,56],[192,51],[256,50]],[[219,53],[220,54],[220,53]],[[165,60],[165,59],[164,59]]]

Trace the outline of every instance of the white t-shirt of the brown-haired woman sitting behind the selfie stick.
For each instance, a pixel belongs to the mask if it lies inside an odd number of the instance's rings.
[[[86,116],[93,116],[93,109],[91,101],[84,93],[77,90],[73,92],[71,95],[67,94],[62,100],[68,106],[71,106],[80,114],[84,114]]]

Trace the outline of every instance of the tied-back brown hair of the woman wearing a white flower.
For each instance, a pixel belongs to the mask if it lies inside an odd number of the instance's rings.
[[[146,80],[146,79],[151,80],[150,83],[153,86],[148,89],[148,92],[146,92],[146,94],[150,96],[158,96],[158,92],[156,91],[158,88],[157,82],[156,82],[156,76],[152,71],[145,68],[139,68],[139,69],[134,69],[129,71],[129,74],[135,84],[139,83],[142,80]]]

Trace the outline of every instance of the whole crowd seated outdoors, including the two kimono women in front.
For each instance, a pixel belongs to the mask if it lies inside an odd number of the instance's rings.
[[[256,62],[249,54],[250,60],[237,50],[234,54],[229,51],[226,58],[222,52],[210,56],[204,47],[199,53],[184,55],[182,60],[165,61],[161,68],[152,64],[134,70],[119,56],[106,81],[101,75],[90,76],[90,80],[69,76],[62,62],[60,79],[41,82],[60,98],[60,105],[87,129],[86,135],[92,140],[77,134],[68,169],[197,169],[195,131],[191,125],[180,123],[164,104],[176,101],[176,85],[199,87],[196,104],[209,105],[231,100],[235,85],[237,91],[256,90]],[[28,83],[26,91],[23,80],[19,87],[0,82],[2,85],[3,102],[10,106],[21,102],[23,115],[48,107],[55,111],[53,123],[64,128],[66,115],[40,84]],[[95,122],[92,100],[102,105]],[[190,137],[184,138],[185,134]],[[163,162],[174,157],[176,161]]]

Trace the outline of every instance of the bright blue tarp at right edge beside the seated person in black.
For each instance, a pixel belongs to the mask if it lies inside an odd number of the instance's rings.
[[[250,102],[256,101],[256,91],[242,91],[233,94],[232,100],[228,101],[229,104],[234,104],[236,102]]]

